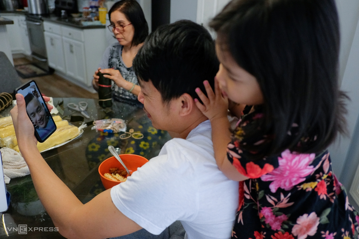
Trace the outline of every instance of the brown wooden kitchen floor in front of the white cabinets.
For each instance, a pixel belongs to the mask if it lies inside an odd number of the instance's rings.
[[[14,65],[30,63],[27,58],[14,55]],[[32,77],[23,79],[20,77],[22,83],[26,83],[29,80],[36,81],[38,87],[42,94],[51,97],[80,97],[80,98],[89,98],[89,99],[98,99],[98,94],[88,92],[87,90],[65,80],[64,78],[57,76],[55,74]]]

